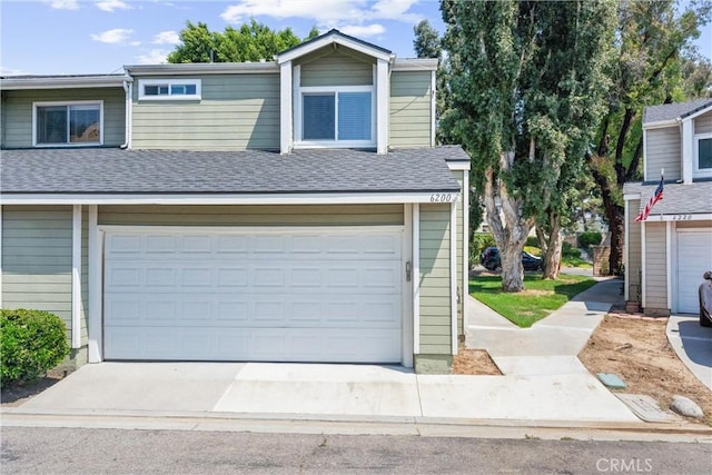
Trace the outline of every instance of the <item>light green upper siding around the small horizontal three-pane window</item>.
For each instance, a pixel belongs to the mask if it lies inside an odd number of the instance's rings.
[[[279,75],[209,75],[195,79],[201,80],[199,101],[139,101],[141,80],[137,81],[132,148],[279,149]]]

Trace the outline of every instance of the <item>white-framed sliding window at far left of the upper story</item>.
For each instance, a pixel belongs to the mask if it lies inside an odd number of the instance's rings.
[[[103,102],[34,102],[34,146],[96,146],[103,142]]]

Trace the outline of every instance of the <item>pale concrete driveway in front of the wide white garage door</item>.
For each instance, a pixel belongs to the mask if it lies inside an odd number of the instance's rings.
[[[586,374],[416,375],[399,366],[268,363],[86,365],[24,404],[3,412],[640,422]]]

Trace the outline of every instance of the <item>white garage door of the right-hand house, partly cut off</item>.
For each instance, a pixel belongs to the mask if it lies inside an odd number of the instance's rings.
[[[698,288],[712,270],[712,229],[678,231],[678,311],[700,311]]]

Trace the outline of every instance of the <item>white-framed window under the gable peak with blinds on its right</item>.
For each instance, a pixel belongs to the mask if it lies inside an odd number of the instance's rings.
[[[304,87],[299,101],[299,145],[374,146],[373,87]]]

